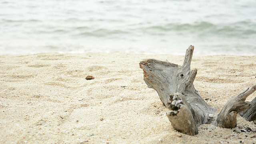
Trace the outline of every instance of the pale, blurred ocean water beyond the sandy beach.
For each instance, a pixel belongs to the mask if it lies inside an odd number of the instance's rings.
[[[256,55],[255,0],[0,0],[0,54]]]

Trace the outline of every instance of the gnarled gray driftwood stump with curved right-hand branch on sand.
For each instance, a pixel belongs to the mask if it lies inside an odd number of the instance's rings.
[[[255,91],[256,85],[228,100],[221,112],[214,117],[216,108],[206,104],[193,85],[197,72],[190,70],[193,51],[194,46],[189,46],[182,66],[155,59],[140,62],[144,81],[149,88],[158,92],[160,100],[170,110],[166,116],[175,130],[195,135],[198,134],[198,126],[209,123],[234,128],[236,114],[250,106],[245,100]]]

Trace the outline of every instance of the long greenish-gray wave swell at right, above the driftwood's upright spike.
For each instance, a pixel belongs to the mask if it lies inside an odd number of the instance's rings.
[[[256,35],[256,24],[248,21],[233,24],[213,24],[210,22],[198,22],[195,24],[168,23],[157,26],[148,26],[149,32],[190,32],[194,34],[216,36],[252,36]]]

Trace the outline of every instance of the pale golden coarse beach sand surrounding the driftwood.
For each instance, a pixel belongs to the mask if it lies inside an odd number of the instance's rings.
[[[256,143],[256,124],[204,124],[199,134],[174,130],[157,92],[143,80],[148,58],[181,65],[184,56],[124,53],[0,56],[0,143],[227,144]],[[226,101],[256,84],[256,56],[194,56],[196,90],[220,112]],[[86,80],[92,75],[95,79]],[[250,101],[256,93],[250,95]]]

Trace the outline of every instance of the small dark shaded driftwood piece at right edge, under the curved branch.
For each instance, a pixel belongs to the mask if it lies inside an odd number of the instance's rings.
[[[250,102],[249,108],[247,108],[243,112],[240,112],[240,115],[248,121],[256,120],[256,98],[254,98]]]

